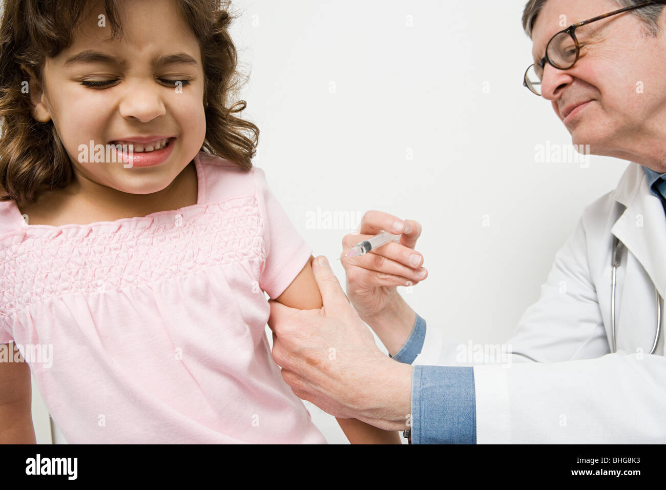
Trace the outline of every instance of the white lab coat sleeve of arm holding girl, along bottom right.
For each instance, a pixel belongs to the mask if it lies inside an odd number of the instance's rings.
[[[665,359],[474,367],[478,443],[666,443]]]

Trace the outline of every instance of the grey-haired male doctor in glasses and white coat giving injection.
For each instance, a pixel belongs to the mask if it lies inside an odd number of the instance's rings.
[[[574,144],[631,163],[614,191],[583,209],[555,255],[539,301],[507,340],[511,362],[457,363],[456,347],[396,293],[419,280],[422,259],[414,252],[420,225],[397,220],[400,243],[342,260],[356,311],[325,257],[312,266],[321,310],[271,302],[273,357],[296,395],[337,417],[406,431],[412,443],[666,443],[663,7],[525,6],[535,63],[527,89],[551,101]],[[561,15],[575,24],[563,30]],[[361,236],[347,235],[344,250],[394,221],[366,213]]]

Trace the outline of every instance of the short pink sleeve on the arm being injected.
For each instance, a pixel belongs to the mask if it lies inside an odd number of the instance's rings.
[[[259,287],[275,299],[296,279],[310,259],[312,249],[268,188],[264,171],[258,167],[253,167],[252,171],[266,247]]]

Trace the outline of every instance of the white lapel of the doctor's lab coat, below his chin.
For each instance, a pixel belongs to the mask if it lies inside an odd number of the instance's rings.
[[[643,265],[666,297],[666,216],[659,198],[647,186],[643,167],[631,163],[615,189],[615,200],[627,207],[611,229]]]

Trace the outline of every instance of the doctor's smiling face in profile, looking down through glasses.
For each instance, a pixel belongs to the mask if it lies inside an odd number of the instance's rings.
[[[548,41],[565,27],[622,7],[613,0],[547,1],[533,26],[533,60],[544,56]],[[577,28],[578,61],[566,70],[545,63],[541,94],[551,101],[573,144],[590,145],[595,155],[634,161],[642,155],[653,160],[651,167],[659,167],[666,165],[666,36],[647,35],[634,12],[641,9]]]

